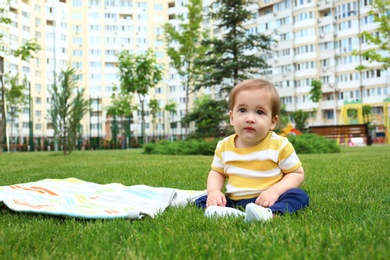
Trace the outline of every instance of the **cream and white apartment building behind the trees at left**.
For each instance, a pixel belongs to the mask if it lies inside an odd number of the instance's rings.
[[[4,4],[4,3],[3,3]],[[53,129],[47,121],[50,107],[50,88],[54,75],[69,65],[77,69],[78,85],[86,89],[91,111],[82,121],[85,139],[110,138],[106,109],[117,79],[117,54],[130,50],[134,54],[152,48],[157,62],[168,67],[164,42],[160,39],[162,25],[168,21],[166,1],[132,0],[12,0],[9,11],[3,13],[12,20],[10,25],[1,24],[4,34],[5,72],[26,76],[32,97],[31,115],[28,107],[18,114],[11,136],[29,135],[29,120],[33,120],[34,137],[52,137]],[[7,53],[35,38],[43,48],[30,62],[20,62]],[[157,99],[161,108],[167,100],[166,81],[152,89],[147,97]],[[134,102],[137,102],[136,100]],[[129,104],[130,105],[130,104]],[[148,113],[148,111],[147,111]],[[175,120],[158,115],[158,125],[152,126],[146,118],[148,134],[152,130],[164,131],[164,126]],[[177,119],[178,120],[178,119]],[[132,132],[141,135],[140,114],[134,113]]]

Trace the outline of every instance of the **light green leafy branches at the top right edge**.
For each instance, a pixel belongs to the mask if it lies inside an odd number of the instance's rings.
[[[354,50],[352,54],[361,55],[370,62],[380,62],[382,68],[386,70],[390,67],[390,0],[373,0],[371,7],[368,14],[372,15],[374,22],[378,23],[378,33],[365,31],[359,36],[375,47],[366,51]],[[366,66],[360,65],[356,69],[364,70]]]

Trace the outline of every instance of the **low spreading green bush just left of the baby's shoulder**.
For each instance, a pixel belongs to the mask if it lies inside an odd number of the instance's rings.
[[[213,155],[219,140],[160,141],[144,145],[145,154]]]

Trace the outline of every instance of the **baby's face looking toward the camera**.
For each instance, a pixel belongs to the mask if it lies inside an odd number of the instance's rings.
[[[271,94],[266,89],[247,89],[237,93],[230,111],[230,124],[238,134],[237,148],[259,144],[276,126],[272,116]]]

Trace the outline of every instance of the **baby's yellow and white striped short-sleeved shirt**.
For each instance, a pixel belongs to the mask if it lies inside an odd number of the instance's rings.
[[[257,197],[302,163],[286,137],[270,131],[256,146],[236,148],[233,134],[215,149],[211,168],[228,179],[226,195],[233,200]]]

